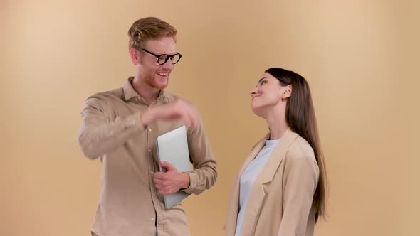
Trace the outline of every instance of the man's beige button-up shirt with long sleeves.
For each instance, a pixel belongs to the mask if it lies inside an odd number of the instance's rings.
[[[149,107],[177,99],[166,90],[147,104],[133,89],[132,77],[116,90],[95,94],[81,112],[78,142],[90,159],[102,162],[101,192],[91,231],[99,236],[186,236],[187,218],[181,204],[167,210],[157,193],[153,173],[159,171],[156,137],[182,122],[152,122],[144,127],[140,116]],[[194,170],[184,191],[199,194],[214,185],[216,161],[200,120],[187,127],[189,154]]]

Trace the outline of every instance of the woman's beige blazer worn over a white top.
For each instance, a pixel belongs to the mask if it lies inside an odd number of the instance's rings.
[[[241,173],[268,137],[269,134],[253,147],[233,182],[224,227],[226,235],[235,235]],[[313,149],[305,139],[288,129],[253,183],[241,236],[314,235],[312,202],[318,178],[319,168]]]

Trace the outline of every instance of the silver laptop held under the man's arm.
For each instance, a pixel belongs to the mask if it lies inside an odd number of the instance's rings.
[[[157,136],[156,145],[159,161],[167,161],[179,172],[190,171],[187,128],[185,126]],[[160,171],[166,171],[160,166],[160,163],[159,168]],[[189,193],[185,193],[182,190],[170,195],[164,195],[165,207],[167,209],[172,208],[188,196]]]

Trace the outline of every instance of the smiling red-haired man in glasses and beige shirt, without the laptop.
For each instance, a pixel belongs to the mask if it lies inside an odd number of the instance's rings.
[[[86,100],[80,149],[102,162],[101,193],[92,235],[189,235],[181,204],[167,210],[162,195],[181,189],[199,194],[216,182],[216,161],[204,126],[188,102],[164,90],[174,64],[177,30],[159,18],[141,18],[128,31],[135,76],[123,87]],[[169,163],[159,171],[156,137],[187,125],[194,170]]]

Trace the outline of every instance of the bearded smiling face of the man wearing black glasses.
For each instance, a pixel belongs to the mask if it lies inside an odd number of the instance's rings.
[[[145,42],[144,49],[155,55],[174,55],[177,53],[174,38],[163,37],[152,39]],[[172,60],[168,59],[163,65],[157,63],[157,57],[152,54],[140,51],[141,60],[138,64],[140,80],[151,88],[159,90],[164,89],[168,85],[169,74],[174,65]]]

